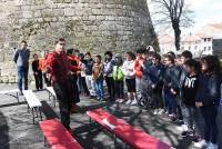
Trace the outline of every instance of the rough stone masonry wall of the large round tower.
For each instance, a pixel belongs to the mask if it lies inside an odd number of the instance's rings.
[[[154,32],[147,0],[0,0],[1,82],[17,81],[19,41],[43,56],[60,37],[70,48],[103,53],[150,44]]]

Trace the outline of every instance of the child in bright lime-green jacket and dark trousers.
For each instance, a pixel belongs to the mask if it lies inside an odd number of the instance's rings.
[[[117,101],[122,103],[124,102],[124,72],[122,68],[122,58],[121,56],[115,56],[115,66],[113,68],[113,80],[115,89]]]

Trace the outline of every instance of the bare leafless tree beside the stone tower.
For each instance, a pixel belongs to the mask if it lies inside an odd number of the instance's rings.
[[[151,0],[154,10],[151,13],[157,26],[170,24],[174,31],[175,49],[180,50],[181,27],[190,27],[193,23],[192,13],[185,0]],[[157,18],[157,20],[155,20]]]

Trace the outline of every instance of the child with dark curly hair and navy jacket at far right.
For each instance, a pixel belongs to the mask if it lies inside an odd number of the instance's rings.
[[[206,56],[201,59],[202,74],[195,97],[195,106],[201,109],[204,119],[204,140],[195,147],[216,149],[216,113],[220,103],[221,63],[218,57]],[[221,139],[221,138],[220,138]]]

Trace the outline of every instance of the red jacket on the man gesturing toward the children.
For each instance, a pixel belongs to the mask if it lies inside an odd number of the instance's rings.
[[[70,63],[65,52],[58,53],[54,51],[49,53],[46,63],[52,82],[67,82],[69,81],[70,71],[75,72],[80,70],[79,67]]]

